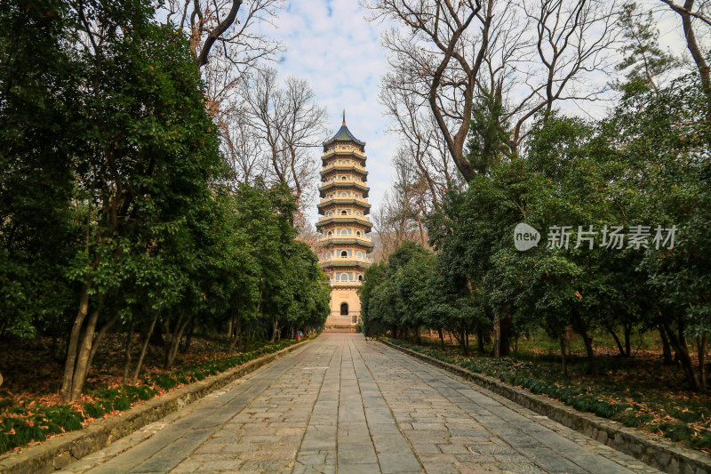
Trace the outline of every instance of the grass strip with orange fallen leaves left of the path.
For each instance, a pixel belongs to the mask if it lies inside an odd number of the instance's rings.
[[[99,386],[74,404],[52,403],[52,399],[47,398],[0,398],[0,453],[44,441],[52,435],[81,430],[94,419],[123,412],[179,385],[204,380],[294,343],[296,341],[286,340],[264,344],[247,352],[204,360],[170,372],[149,372],[140,385]]]

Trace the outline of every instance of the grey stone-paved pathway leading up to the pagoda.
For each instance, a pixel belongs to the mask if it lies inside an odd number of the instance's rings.
[[[350,333],[324,333],[67,470],[84,471],[659,472]]]

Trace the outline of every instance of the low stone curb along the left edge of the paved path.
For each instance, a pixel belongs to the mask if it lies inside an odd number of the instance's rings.
[[[297,342],[288,348],[254,359],[242,366],[172,390],[161,397],[151,398],[107,420],[92,422],[83,430],[69,431],[60,436],[49,438],[41,445],[28,446],[19,453],[0,455],[0,472],[3,474],[44,474],[60,470],[87,454],[99,451],[117,439],[139,430],[148,423],[156,422],[165,415],[180,410],[183,406],[203,398],[229,382],[254,372],[276,358],[281,358],[293,350],[300,349],[308,341],[312,340]]]

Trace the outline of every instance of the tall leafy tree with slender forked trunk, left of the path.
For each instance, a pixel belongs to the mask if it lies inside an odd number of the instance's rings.
[[[220,170],[188,44],[156,26],[148,4],[81,4],[83,133],[74,153],[83,247],[68,275],[80,285],[62,398],[80,396],[100,313],[154,247],[155,226],[180,228]],[[101,18],[89,24],[85,18]],[[127,28],[128,25],[131,28]],[[110,317],[107,324],[113,324]],[[101,331],[97,333],[100,335]]]

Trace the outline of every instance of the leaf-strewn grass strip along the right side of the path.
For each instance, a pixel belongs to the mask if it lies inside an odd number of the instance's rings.
[[[625,426],[664,436],[711,452],[711,398],[691,394],[678,379],[678,369],[664,369],[657,358],[598,357],[600,374],[587,375],[585,359],[573,353],[570,376],[563,378],[560,357],[545,344],[519,344],[515,357],[459,355],[458,348],[435,342],[414,345],[390,339],[432,358],[489,375],[515,387],[545,395],[580,412],[596,414]],[[571,348],[574,349],[574,348]]]

